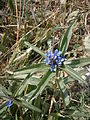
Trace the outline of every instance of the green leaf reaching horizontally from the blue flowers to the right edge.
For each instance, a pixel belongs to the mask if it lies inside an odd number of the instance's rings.
[[[71,61],[67,61],[67,63],[69,63],[70,67],[83,67],[85,65],[90,64],[90,57],[88,58],[79,58],[76,60],[71,60]]]

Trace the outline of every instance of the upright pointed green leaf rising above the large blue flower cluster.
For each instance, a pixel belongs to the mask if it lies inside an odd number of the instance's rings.
[[[74,26],[74,22],[73,21],[71,23],[71,25],[69,26],[69,28],[66,30],[66,33],[65,35],[62,37],[61,41],[60,41],[60,44],[59,44],[59,50],[62,51],[62,54],[64,55],[65,52],[67,51],[68,49],[68,46],[69,46],[69,42],[70,42],[70,39],[72,37],[72,29],[73,29],[73,26]]]

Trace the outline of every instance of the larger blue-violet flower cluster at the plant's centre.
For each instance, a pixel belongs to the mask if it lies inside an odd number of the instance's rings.
[[[45,54],[46,59],[44,60],[44,62],[46,63],[46,65],[51,66],[51,71],[56,72],[57,68],[61,67],[63,62],[65,61],[65,58],[62,57],[61,54],[62,52],[58,51],[58,49],[56,49],[54,53],[51,50],[48,50],[48,52]]]

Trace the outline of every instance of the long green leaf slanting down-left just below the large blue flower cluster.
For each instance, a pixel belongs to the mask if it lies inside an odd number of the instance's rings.
[[[55,73],[51,73],[51,71],[48,71],[44,77],[41,79],[40,83],[37,85],[37,88],[33,95],[31,96],[31,100],[35,99],[39,94],[42,93],[44,88],[48,85],[50,79],[55,75]]]

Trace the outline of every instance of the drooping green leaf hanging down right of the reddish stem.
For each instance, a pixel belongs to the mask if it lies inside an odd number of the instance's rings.
[[[67,89],[66,89],[63,79],[60,78],[59,80],[57,80],[57,84],[58,84],[64,105],[66,107],[67,105],[69,105],[70,100],[69,100],[69,95],[68,95],[68,92],[67,92]]]

